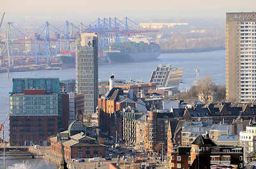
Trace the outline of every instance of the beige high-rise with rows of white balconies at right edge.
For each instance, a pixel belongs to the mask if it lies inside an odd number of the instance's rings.
[[[256,13],[227,13],[226,99],[256,100]]]

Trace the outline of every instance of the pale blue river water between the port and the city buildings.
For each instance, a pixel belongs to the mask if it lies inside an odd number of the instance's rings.
[[[196,66],[199,66],[200,78],[211,76],[217,85],[225,85],[225,50],[198,53],[163,53],[158,59],[150,62],[100,65],[99,80],[108,80],[109,76],[114,73],[116,79],[133,79],[133,81],[142,80],[148,82],[151,72],[159,64],[171,64],[178,68],[184,68],[183,84],[180,86],[180,90],[189,88],[192,85],[195,80]],[[6,74],[0,74],[0,121],[3,121],[8,113],[8,93],[12,89],[12,78],[73,79],[75,78],[75,69],[11,72],[10,78]],[[6,138],[8,138],[8,124],[8,121],[6,121]]]

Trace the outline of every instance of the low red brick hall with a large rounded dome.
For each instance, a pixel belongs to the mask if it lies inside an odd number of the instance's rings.
[[[86,135],[86,126],[80,121],[73,121],[68,130],[50,138],[52,154],[61,156],[61,142],[66,158],[93,158],[105,156],[105,145]]]

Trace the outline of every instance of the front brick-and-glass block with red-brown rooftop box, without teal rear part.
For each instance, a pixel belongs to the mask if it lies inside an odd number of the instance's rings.
[[[49,144],[58,130],[58,104],[57,93],[45,90],[10,95],[10,145]]]

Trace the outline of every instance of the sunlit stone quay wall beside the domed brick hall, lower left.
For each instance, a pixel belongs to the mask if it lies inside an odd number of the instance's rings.
[[[57,166],[61,164],[61,157],[51,154],[49,152],[46,152],[43,149],[40,149],[40,148],[36,149],[35,147],[30,146],[28,151],[35,155],[43,154],[43,158],[47,159],[51,163],[56,164]],[[68,164],[68,168],[75,168],[75,165],[73,165],[73,162],[70,159],[65,159],[65,160],[66,160],[66,163]]]

